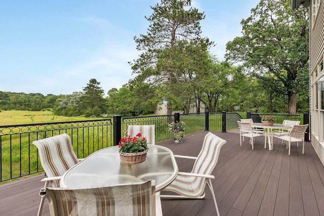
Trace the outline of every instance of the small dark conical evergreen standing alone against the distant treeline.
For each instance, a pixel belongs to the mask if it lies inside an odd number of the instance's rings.
[[[95,107],[98,107],[101,113],[105,113],[106,100],[103,98],[104,90],[99,87],[99,85],[100,82],[98,82],[96,79],[90,79],[87,86],[83,88],[84,94],[80,100],[84,109],[93,110]]]

